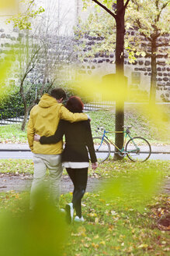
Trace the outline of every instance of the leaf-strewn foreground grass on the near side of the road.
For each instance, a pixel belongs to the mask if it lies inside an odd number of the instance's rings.
[[[108,186],[110,183],[106,183],[106,187],[102,187],[97,193],[85,193],[82,201],[85,223],[74,222],[65,228],[67,235],[60,256],[168,255],[168,225],[162,225],[163,220],[166,224],[168,223],[168,195],[158,194],[158,191],[153,194],[150,190],[146,190],[144,193],[141,190],[142,197],[137,196],[139,190],[134,186],[134,180],[130,179],[137,177],[141,181],[140,179],[144,177],[142,176],[144,170],[147,171],[147,174],[152,174],[152,176],[145,176],[147,179],[145,181],[148,181],[149,185],[158,181],[163,186],[162,180],[168,179],[170,174],[168,161],[150,160],[134,163],[125,159],[121,162],[103,162],[95,171],[89,169],[89,176],[102,180],[107,178],[109,182],[113,178],[113,183],[111,183],[111,187]],[[33,174],[33,162],[23,159],[0,160],[0,172]],[[155,180],[155,177],[158,179]],[[118,183],[115,183],[119,179],[121,179],[126,194],[115,194],[119,191]],[[61,195],[61,208],[64,208],[65,204],[71,201],[71,197],[71,193]],[[25,218],[28,208],[26,205],[28,204],[29,192],[9,191],[0,193],[0,212],[2,209],[9,210],[10,219],[19,218],[18,216],[22,213],[22,218]],[[39,230],[41,229],[45,241],[45,236],[50,236],[51,231],[48,226],[44,226],[46,223],[44,211],[41,211],[41,215],[43,215],[42,228],[37,228],[35,222],[33,237],[39,237],[38,234],[40,234]],[[0,222],[5,221],[3,216],[0,217]],[[28,219],[24,222],[26,221]],[[50,226],[53,221],[50,218]],[[10,223],[10,230],[16,230],[16,233],[14,232],[12,233],[13,236],[9,236],[8,243],[12,244],[13,241],[16,241],[14,244],[17,244],[17,234],[19,235],[20,229],[23,231],[24,227],[19,227],[17,224],[17,228],[16,226],[14,228],[11,226],[12,221]],[[27,233],[27,225],[25,232]],[[37,236],[35,236],[35,232],[37,232]],[[58,232],[57,229],[56,232]],[[30,236],[32,236],[31,233]],[[29,239],[27,235],[26,239]],[[38,246],[39,243],[36,244]],[[48,246],[50,247],[50,244],[47,244]],[[29,250],[31,250],[30,248],[31,244],[29,244]]]

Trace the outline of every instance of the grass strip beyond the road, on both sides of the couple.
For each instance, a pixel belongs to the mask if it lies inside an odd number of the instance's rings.
[[[113,109],[88,112],[91,117],[93,136],[98,135],[95,130],[99,126],[104,126],[106,130],[113,131],[115,127],[115,112]],[[127,107],[125,111],[125,125],[132,125],[132,136],[141,136],[151,142],[151,144],[170,144],[168,137],[168,120],[160,120],[161,129],[155,127],[151,120],[147,119],[140,111],[132,107]],[[0,126],[0,143],[27,143],[26,130],[20,129],[21,124]],[[163,128],[164,127],[164,128]],[[160,127],[159,127],[160,128]],[[109,137],[114,140],[114,133]]]

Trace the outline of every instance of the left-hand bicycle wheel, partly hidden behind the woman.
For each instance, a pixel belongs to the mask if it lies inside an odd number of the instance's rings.
[[[109,142],[105,139],[102,140],[102,137],[93,137],[92,138],[95,148],[95,155],[98,162],[104,162],[109,158],[110,146]]]

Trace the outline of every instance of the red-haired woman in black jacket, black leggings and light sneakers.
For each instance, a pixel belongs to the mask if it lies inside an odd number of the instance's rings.
[[[66,108],[71,112],[82,112],[83,107],[81,99],[76,96],[69,98],[66,104]],[[54,135],[40,137],[36,134],[34,139],[40,140],[41,144],[55,144],[62,140],[64,135],[66,144],[61,155],[61,161],[74,184],[72,202],[66,205],[65,210],[68,222],[71,222],[73,218],[74,208],[76,212],[75,221],[83,222],[82,197],[85,194],[88,180],[88,152],[92,162],[92,169],[97,168],[89,120],[78,123],[69,123],[61,120]]]

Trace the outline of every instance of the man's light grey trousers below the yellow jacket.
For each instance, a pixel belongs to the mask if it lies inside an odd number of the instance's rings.
[[[61,155],[33,154],[33,163],[34,173],[30,193],[30,209],[33,209],[35,204],[34,197],[36,191],[43,186],[47,169],[49,169],[50,175],[50,200],[57,205],[60,196],[60,183],[63,172]]]

